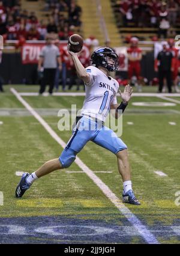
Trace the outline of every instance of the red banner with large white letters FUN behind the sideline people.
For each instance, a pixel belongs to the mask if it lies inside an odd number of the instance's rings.
[[[40,52],[44,43],[25,43],[22,46],[21,56],[23,64],[37,64],[40,56]],[[59,50],[63,48],[67,50],[67,43],[61,43],[59,45]],[[89,47],[85,44],[83,45],[83,52],[85,52],[86,58],[90,58]]]

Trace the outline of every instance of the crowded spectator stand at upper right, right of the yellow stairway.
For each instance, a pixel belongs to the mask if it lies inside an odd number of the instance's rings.
[[[153,41],[180,32],[179,0],[111,0],[111,5],[124,42],[130,35],[141,41]]]

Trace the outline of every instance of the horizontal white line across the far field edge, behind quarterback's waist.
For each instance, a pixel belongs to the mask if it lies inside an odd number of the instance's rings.
[[[20,96],[38,96],[38,93],[19,93]],[[48,93],[44,93],[44,96],[48,96]],[[53,96],[85,96],[85,93],[53,93]],[[180,93],[133,93],[133,97],[180,97]]]

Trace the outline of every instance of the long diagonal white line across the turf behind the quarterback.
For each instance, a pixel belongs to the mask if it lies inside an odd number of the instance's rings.
[[[26,109],[28,109],[29,112],[31,112],[32,115],[42,124],[44,129],[49,132],[49,134],[52,136],[52,138],[55,139],[56,142],[61,145],[61,147],[65,147],[65,142],[62,141],[61,138],[54,132],[54,130],[49,126],[49,124],[46,123],[46,121],[43,120],[40,115],[37,114],[37,112],[24,100],[22,97],[17,93],[17,91],[14,88],[11,88],[11,92],[17,97],[17,99],[22,103],[22,105],[25,106]],[[82,162],[82,160],[79,159],[79,157],[76,157],[75,160],[76,164],[84,171],[89,178],[91,178],[92,181],[101,189],[101,191],[106,195],[107,198],[117,207],[119,212],[122,213],[122,215],[127,218],[127,220],[136,228],[137,233],[140,234],[140,236],[145,239],[147,243],[159,243],[158,240],[154,237],[154,235],[149,231],[145,225],[142,224],[142,222],[135,216],[133,213],[119,200],[118,197],[112,192],[112,190],[109,189],[109,187],[99,178],[97,175],[94,174],[91,169],[88,168],[88,166],[85,165],[85,163]],[[138,207],[138,206],[134,206]]]

